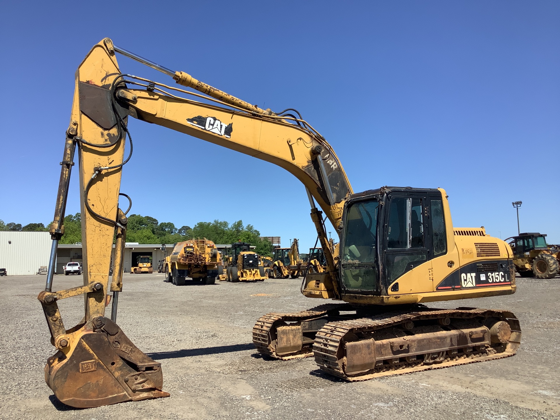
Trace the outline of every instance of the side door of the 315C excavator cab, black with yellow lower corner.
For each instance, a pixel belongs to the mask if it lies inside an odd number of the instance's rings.
[[[397,193],[386,207],[384,274],[389,295],[431,292],[431,237],[427,195]]]

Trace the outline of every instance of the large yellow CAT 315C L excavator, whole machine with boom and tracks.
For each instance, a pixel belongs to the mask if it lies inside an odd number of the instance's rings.
[[[116,53],[194,91],[123,73]],[[443,189],[385,186],[354,193],[332,147],[295,109],[261,109],[105,38],[76,72],[50,226],[52,253],[46,287],[38,296],[57,349],[46,362],[45,380],[64,404],[97,407],[169,395],[162,390],[160,363],[134,346],[116,324],[126,214],[132,206],[120,192],[122,169],[132,156],[130,116],[269,161],[304,184],[326,270],[307,274],[301,290],[307,297],[338,302],[264,315],[253,329],[259,352],[281,359],[314,356],[321,370],[351,381],[515,354],[521,331],[510,311],[424,306],[510,295],[516,289],[510,246],[486,235],[484,228],[454,228]],[[76,148],[83,285],[53,292]],[[128,200],[125,211],[119,196]],[[326,218],[340,238],[334,249]],[[58,301],[78,295],[85,296],[84,317],[68,328]]]

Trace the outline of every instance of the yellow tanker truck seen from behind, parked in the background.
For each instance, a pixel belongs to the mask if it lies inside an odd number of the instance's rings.
[[[171,255],[165,259],[165,281],[184,286],[186,278],[203,284],[216,283],[220,253],[214,242],[204,239],[189,239],[175,244]]]

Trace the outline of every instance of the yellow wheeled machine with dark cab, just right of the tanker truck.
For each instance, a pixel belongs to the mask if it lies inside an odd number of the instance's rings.
[[[226,281],[237,283],[247,281],[265,281],[267,275],[259,254],[251,251],[251,244],[236,242],[231,244],[231,256],[226,269]]]

